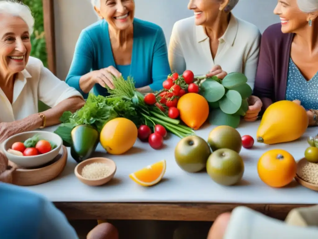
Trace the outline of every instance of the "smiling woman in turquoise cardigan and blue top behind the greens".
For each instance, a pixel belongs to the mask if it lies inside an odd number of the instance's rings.
[[[134,18],[134,0],[92,0],[100,21],[85,28],[77,41],[66,83],[86,98],[93,88],[107,95],[112,75],[132,76],[138,91],[162,89],[170,74],[162,28]]]

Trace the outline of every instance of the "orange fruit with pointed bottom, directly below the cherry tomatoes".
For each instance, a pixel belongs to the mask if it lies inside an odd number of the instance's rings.
[[[207,100],[197,93],[188,93],[180,97],[177,108],[180,119],[194,130],[199,129],[209,116]]]

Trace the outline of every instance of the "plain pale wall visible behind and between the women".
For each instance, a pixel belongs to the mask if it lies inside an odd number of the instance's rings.
[[[193,15],[188,0],[135,0],[136,18],[154,22],[163,28],[167,42],[174,22]],[[273,14],[277,0],[240,0],[235,16],[257,25],[263,32],[279,18]],[[169,7],[168,7],[169,6]],[[57,75],[66,78],[80,31],[98,18],[90,0],[54,0]]]

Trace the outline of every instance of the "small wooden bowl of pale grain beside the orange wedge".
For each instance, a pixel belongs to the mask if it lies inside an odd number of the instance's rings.
[[[74,172],[82,183],[89,186],[100,186],[108,183],[114,177],[116,164],[109,158],[90,158],[79,163]]]

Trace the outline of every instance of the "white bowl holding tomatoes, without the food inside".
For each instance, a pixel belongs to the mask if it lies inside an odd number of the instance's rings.
[[[57,147],[52,149],[50,152],[35,156],[17,156],[7,151],[12,147],[13,143],[23,142],[35,134],[38,134],[40,139],[51,141],[52,143],[56,144]],[[62,144],[63,141],[58,134],[47,131],[29,131],[15,134],[5,140],[2,144],[2,151],[11,162],[17,164],[18,166],[23,168],[35,168],[52,161],[56,156],[58,156]]]

